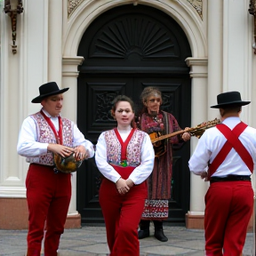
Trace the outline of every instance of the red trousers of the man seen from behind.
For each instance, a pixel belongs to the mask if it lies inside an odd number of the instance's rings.
[[[212,183],[205,195],[205,255],[242,255],[252,208],[250,181]]]

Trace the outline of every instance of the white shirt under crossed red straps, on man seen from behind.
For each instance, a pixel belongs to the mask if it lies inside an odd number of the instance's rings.
[[[228,117],[222,124],[226,124],[231,130],[239,124],[239,117]],[[243,143],[244,147],[248,150],[252,156],[254,168],[256,164],[256,129],[247,126],[244,132],[239,136],[239,140]],[[213,159],[218,155],[220,149],[223,147],[227,139],[216,128],[212,127],[206,130],[203,136],[198,140],[195,152],[191,156],[188,166],[190,172],[194,172],[197,175],[201,175],[202,172],[208,170],[208,163],[212,163]],[[228,156],[216,172],[212,174],[212,177],[226,177],[227,175],[251,175],[252,172],[248,169],[244,161],[236,153],[236,150],[232,148],[228,153]]]

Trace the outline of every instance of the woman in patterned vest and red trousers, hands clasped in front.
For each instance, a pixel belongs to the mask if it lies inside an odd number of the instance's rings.
[[[146,181],[153,170],[154,148],[146,132],[136,129],[130,98],[113,101],[113,130],[102,132],[95,160],[104,178],[100,206],[111,256],[139,256],[138,225],[147,198]]]

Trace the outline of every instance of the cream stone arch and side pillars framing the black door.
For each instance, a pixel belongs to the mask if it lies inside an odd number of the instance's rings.
[[[207,120],[207,110],[202,113],[202,109],[207,109],[207,76],[208,76],[208,59],[207,56],[207,44],[206,36],[204,35],[204,28],[202,26],[202,20],[195,16],[195,9],[191,4],[180,5],[178,2],[172,2],[163,4],[156,0],[150,1],[136,1],[138,4],[150,5],[156,9],[162,10],[176,20],[180,27],[184,30],[188,37],[188,42],[190,44],[190,49],[192,56],[186,61],[188,67],[190,67],[190,77],[191,77],[191,120],[193,124],[200,124],[202,120]],[[67,3],[66,3],[67,4]],[[101,1],[92,1],[88,5],[87,1],[80,4],[76,11],[73,13],[71,18],[68,20],[68,26],[66,25],[63,29],[63,58],[62,58],[62,86],[70,87],[70,92],[68,93],[68,101],[72,102],[72,107],[68,104],[68,108],[63,109],[63,114],[68,116],[68,118],[76,122],[77,113],[77,68],[84,61],[81,56],[76,56],[78,45],[80,43],[81,37],[84,35],[86,28],[90,26],[92,21],[96,19],[101,13],[108,11],[108,9],[122,5],[131,4],[130,0],[119,0],[110,1],[108,3],[102,3]],[[67,6],[66,6],[67,7]],[[64,6],[65,8],[65,6]],[[67,18],[67,17],[66,17]],[[68,19],[68,18],[67,18]],[[67,20],[63,20],[66,22]],[[85,60],[86,61],[86,60]],[[200,104],[198,104],[198,96],[203,99]],[[200,113],[200,115],[198,115]],[[191,124],[191,125],[193,125]],[[193,152],[196,148],[197,140],[192,138],[190,142],[190,152]],[[201,181],[201,182],[199,182]],[[204,217],[204,200],[199,203],[195,202],[196,193],[198,192],[202,195],[205,194],[207,187],[202,180],[196,179],[194,175],[191,175],[191,185],[190,185],[190,210],[188,212],[188,220],[193,215],[203,215]],[[206,183],[206,182],[205,182]],[[195,192],[196,188],[196,192]],[[195,204],[195,206],[194,206]],[[195,211],[193,211],[195,209]],[[203,212],[203,213],[202,213]],[[77,217],[79,220],[79,213],[76,211],[76,174],[72,178],[72,198],[71,204],[68,210],[68,218]],[[80,216],[81,219],[81,216]]]

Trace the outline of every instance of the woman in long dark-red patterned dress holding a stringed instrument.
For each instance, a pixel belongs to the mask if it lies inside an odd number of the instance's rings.
[[[157,88],[146,87],[141,92],[140,99],[143,108],[139,116],[138,128],[147,132],[151,140],[181,130],[176,118],[160,109],[163,100],[162,93]],[[140,220],[139,239],[149,236],[149,226],[152,220],[156,239],[161,242],[168,241],[168,238],[164,236],[163,220],[168,218],[168,199],[171,198],[172,145],[175,144],[175,147],[180,148],[187,140],[190,140],[190,134],[184,132],[154,144],[155,164],[147,180],[148,199]]]

